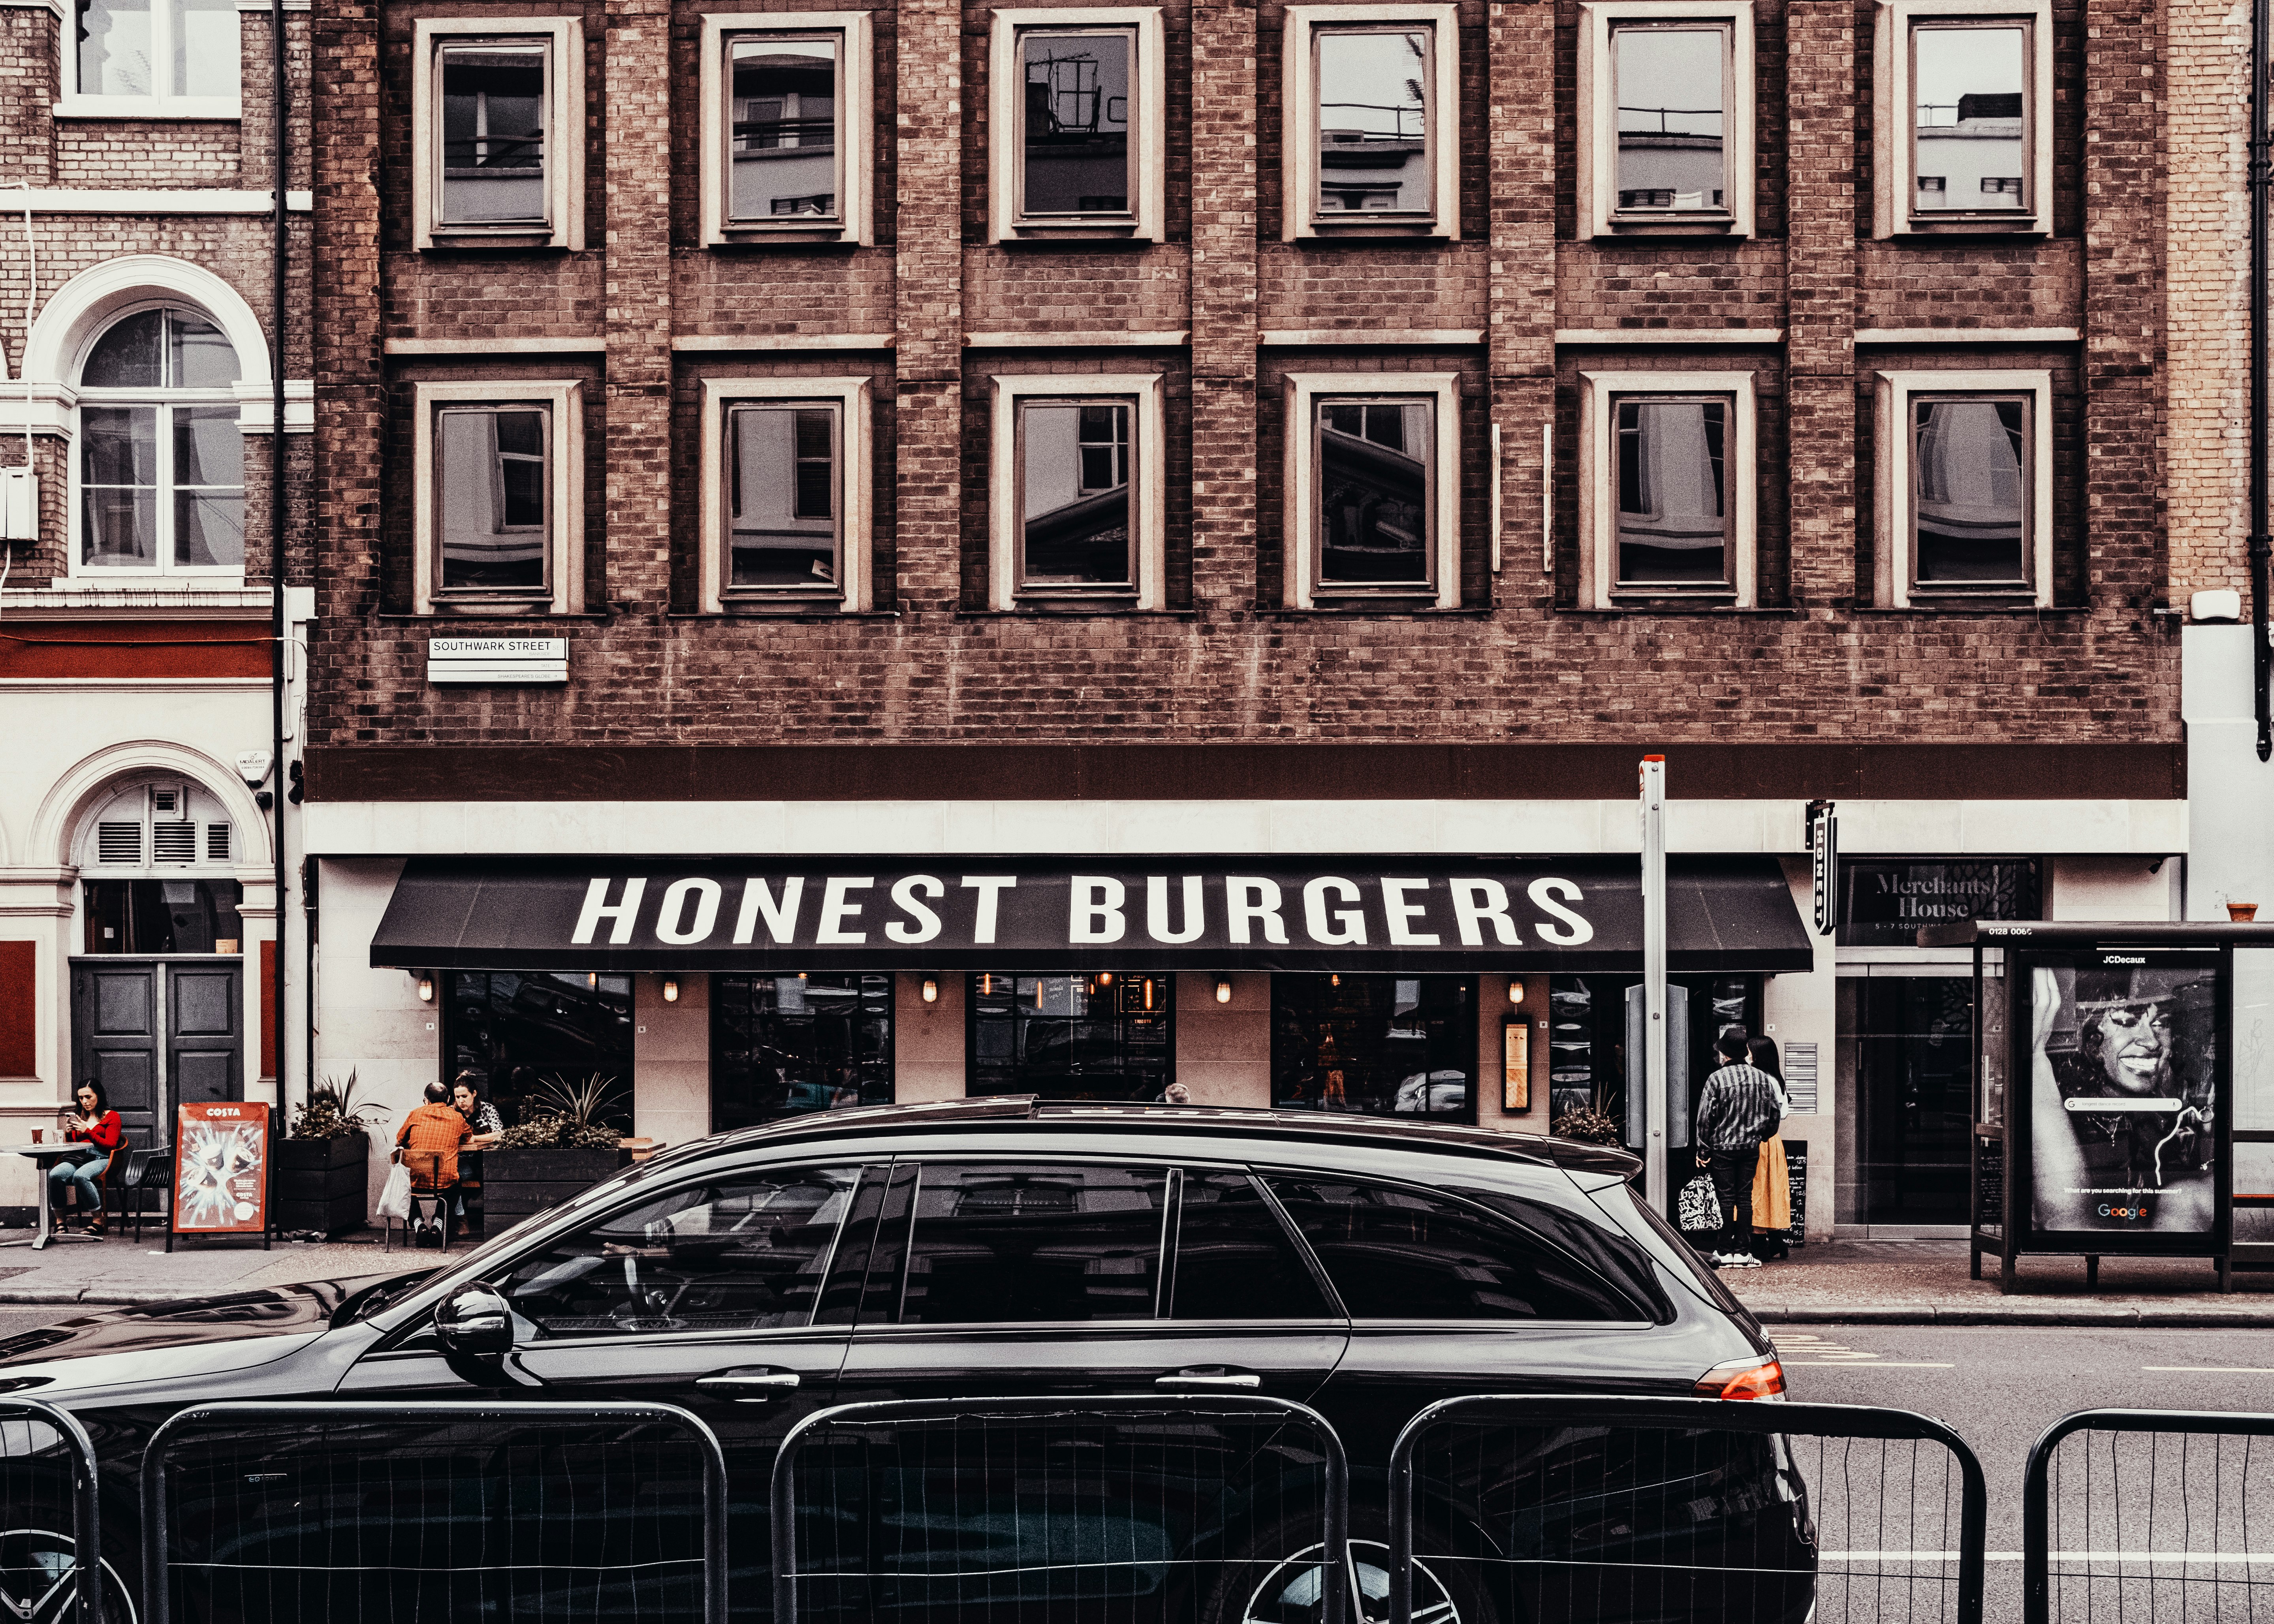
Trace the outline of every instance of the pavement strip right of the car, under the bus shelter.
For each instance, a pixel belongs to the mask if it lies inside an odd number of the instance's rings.
[[[2012,1296],[1997,1258],[1967,1278],[1962,1240],[1869,1240],[1796,1246],[1790,1262],[1721,1269],[1762,1324],[1849,1326],[2260,1326],[2274,1328],[2274,1271],[2235,1269],[2219,1292],[2208,1258],[2101,1258],[2085,1290],[2083,1258],[2024,1256]]]

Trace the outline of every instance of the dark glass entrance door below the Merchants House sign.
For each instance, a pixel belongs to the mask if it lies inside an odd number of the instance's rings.
[[[1965,973],[1840,980],[1842,1224],[1967,1221],[1972,1033]]]

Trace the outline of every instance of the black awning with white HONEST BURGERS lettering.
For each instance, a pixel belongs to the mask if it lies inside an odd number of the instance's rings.
[[[1776,857],[1676,857],[1676,971],[1808,971]],[[1642,967],[1633,857],[412,857],[400,969]]]

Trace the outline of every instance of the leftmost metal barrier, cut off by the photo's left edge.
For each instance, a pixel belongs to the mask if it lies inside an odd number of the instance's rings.
[[[0,1606],[9,1617],[61,1624],[66,1610],[57,1604],[70,1585],[68,1617],[100,1624],[105,1581],[114,1597],[123,1597],[125,1588],[116,1572],[102,1567],[96,1447],[75,1415],[34,1399],[0,1399],[0,1506],[7,1508]],[[89,1565],[96,1583],[82,1581]]]

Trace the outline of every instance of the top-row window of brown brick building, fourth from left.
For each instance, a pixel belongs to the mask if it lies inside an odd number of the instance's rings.
[[[1458,7],[1287,7],[1283,237],[1460,237]]]

